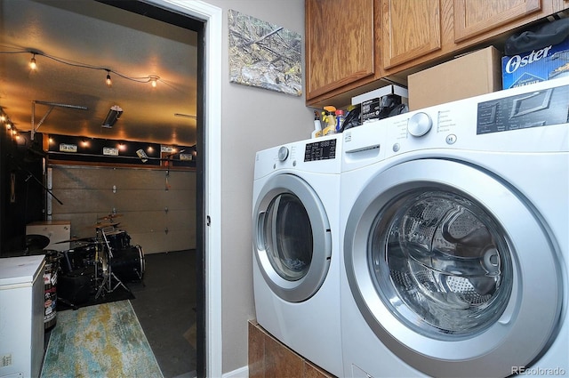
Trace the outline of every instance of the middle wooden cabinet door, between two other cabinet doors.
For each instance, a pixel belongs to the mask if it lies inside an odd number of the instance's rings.
[[[382,0],[383,68],[441,48],[440,0]]]

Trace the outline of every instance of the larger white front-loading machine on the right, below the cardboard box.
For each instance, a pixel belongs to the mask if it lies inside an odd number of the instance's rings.
[[[569,78],[344,133],[344,376],[568,374]]]

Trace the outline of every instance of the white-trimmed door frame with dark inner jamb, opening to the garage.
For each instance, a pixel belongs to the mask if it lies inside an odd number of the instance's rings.
[[[214,277],[216,275],[205,274],[205,272],[220,271],[221,266],[220,112],[213,111],[221,108],[221,10],[202,2],[97,1],[198,33],[196,374],[198,377],[221,376],[221,280],[220,277]]]

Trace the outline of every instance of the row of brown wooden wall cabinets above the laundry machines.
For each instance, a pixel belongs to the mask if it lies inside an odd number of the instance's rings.
[[[306,103],[350,97],[495,45],[569,0],[305,0]],[[383,80],[383,79],[388,80]]]

